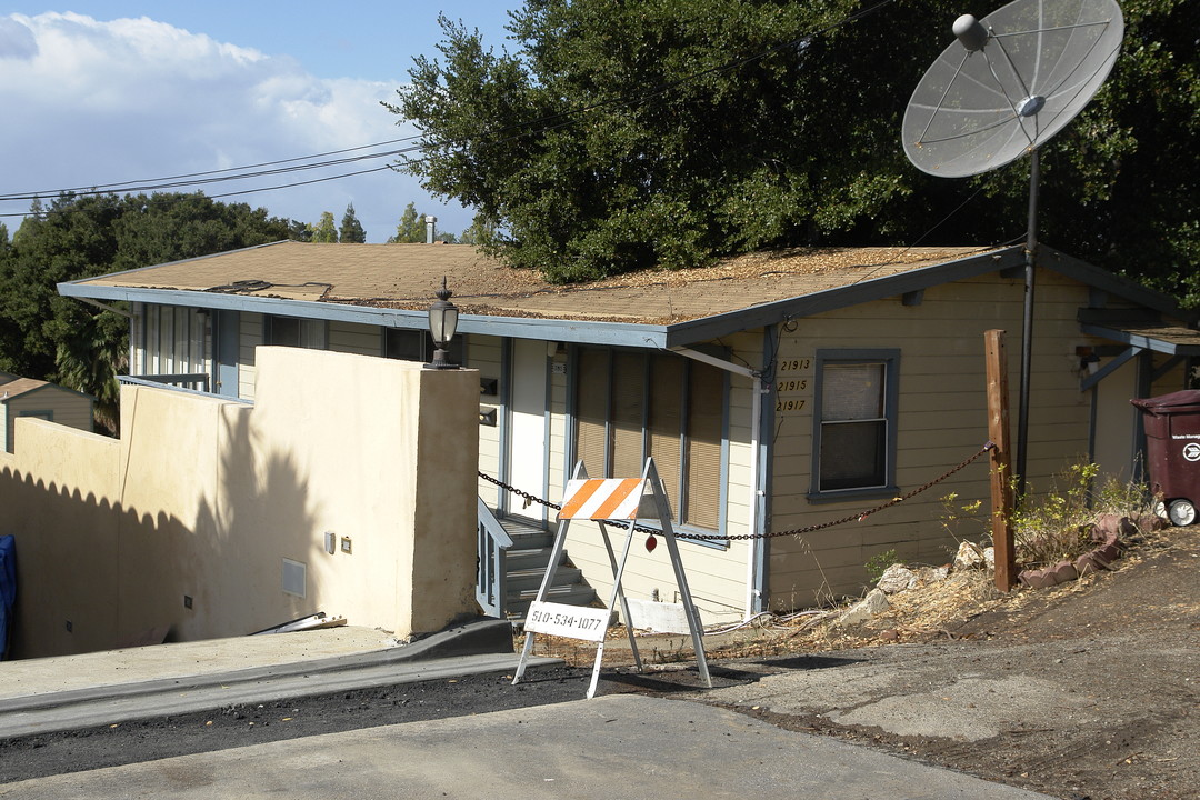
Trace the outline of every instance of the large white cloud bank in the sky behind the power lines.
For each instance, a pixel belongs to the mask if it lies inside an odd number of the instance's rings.
[[[398,118],[379,106],[395,97],[392,84],[318,79],[293,58],[145,17],[0,17],[0,70],[5,194],[224,169],[413,133],[396,127]],[[389,161],[202,188],[216,196]],[[414,179],[390,170],[227,199],[305,222],[316,222],[324,210],[341,218],[354,203],[371,241],[386,239],[409,200],[437,213],[444,230],[461,230],[470,221],[469,212],[436,206]],[[26,209],[28,201],[0,204],[0,212]]]

